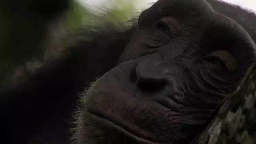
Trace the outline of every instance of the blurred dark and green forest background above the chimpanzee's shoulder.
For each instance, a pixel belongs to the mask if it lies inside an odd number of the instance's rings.
[[[0,2],[0,83],[12,76],[14,71],[26,62],[44,60],[44,52],[49,45],[45,43],[56,42],[47,40],[49,34],[58,33],[58,30],[49,28],[52,23],[60,24],[61,29],[66,31],[65,34],[87,30],[86,32],[91,32],[87,34],[88,40],[92,40],[94,34],[102,30],[127,30],[134,24],[130,20],[137,15],[136,0],[111,0],[108,6],[95,8],[73,0],[65,2]],[[69,4],[68,9],[65,4]],[[51,15],[52,12],[54,15]]]

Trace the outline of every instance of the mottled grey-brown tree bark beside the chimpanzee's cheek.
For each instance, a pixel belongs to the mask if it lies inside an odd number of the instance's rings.
[[[256,144],[256,67],[249,68],[214,120],[191,144]]]

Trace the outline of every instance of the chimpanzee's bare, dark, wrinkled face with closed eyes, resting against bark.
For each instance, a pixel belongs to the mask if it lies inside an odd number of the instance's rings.
[[[187,144],[255,56],[250,35],[204,0],[159,0],[142,12],[118,66],[88,90],[82,144]]]

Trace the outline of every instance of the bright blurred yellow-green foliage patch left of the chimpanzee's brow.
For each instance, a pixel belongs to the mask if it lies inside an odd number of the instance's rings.
[[[90,7],[74,2],[66,15],[66,28],[106,28],[106,23],[112,23],[118,30],[123,30],[131,26],[132,22],[129,20],[136,17],[135,0],[111,0],[108,6]]]

